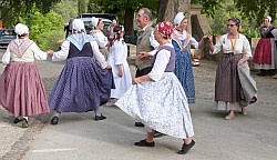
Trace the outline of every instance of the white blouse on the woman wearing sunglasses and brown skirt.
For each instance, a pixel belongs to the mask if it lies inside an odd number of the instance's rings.
[[[235,44],[235,50],[232,48],[232,41]],[[237,41],[235,42],[235,39],[228,39],[227,34],[223,34],[216,42],[215,49],[212,52],[212,54],[218,53],[223,49],[224,53],[245,53],[248,57],[252,57],[252,48],[249,44],[249,41],[244,34],[238,36]]]

